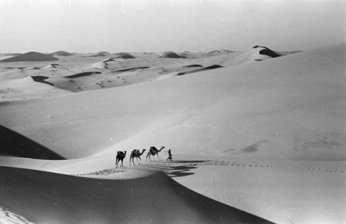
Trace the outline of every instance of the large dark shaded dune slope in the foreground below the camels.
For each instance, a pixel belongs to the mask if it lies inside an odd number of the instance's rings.
[[[107,181],[0,167],[0,179],[1,207],[35,223],[271,223],[163,173]]]

